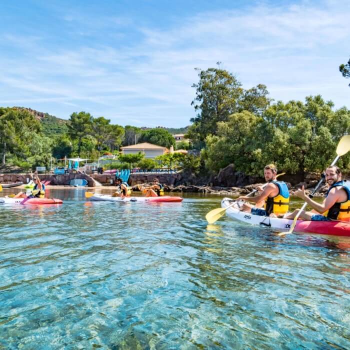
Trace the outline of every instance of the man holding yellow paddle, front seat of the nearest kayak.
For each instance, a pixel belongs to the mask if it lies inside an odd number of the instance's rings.
[[[268,182],[262,192],[255,197],[245,195],[239,196],[236,200],[247,200],[255,203],[255,207],[243,203],[241,211],[250,212],[261,216],[283,216],[288,211],[289,191],[283,181],[276,181],[277,169],[273,164],[266,165],[263,170],[265,180]],[[264,208],[260,208],[264,203]]]

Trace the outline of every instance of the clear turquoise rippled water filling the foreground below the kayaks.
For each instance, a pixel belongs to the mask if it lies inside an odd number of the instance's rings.
[[[350,239],[50,194],[0,207],[0,348],[350,348]]]

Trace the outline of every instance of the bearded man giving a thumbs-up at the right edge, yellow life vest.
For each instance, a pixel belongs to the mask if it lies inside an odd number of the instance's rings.
[[[295,193],[304,200],[312,211],[302,211],[299,218],[312,221],[341,220],[350,221],[350,183],[341,179],[340,169],[333,165],[325,169],[325,181],[328,191],[322,203],[312,200],[306,193],[304,186]],[[299,209],[286,215],[286,218],[294,218]]]

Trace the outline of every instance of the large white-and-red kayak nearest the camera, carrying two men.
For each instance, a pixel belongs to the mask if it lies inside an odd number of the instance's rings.
[[[232,204],[232,202],[233,199],[231,198],[223,198],[221,201],[221,207],[226,208],[228,205]],[[278,232],[288,231],[293,222],[292,219],[260,216],[240,211],[237,205],[228,208],[226,214],[232,219],[253,225],[268,226]],[[301,233],[350,236],[350,222],[297,220],[294,231]]]

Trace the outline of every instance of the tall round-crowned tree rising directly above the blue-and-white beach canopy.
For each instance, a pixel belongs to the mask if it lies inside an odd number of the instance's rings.
[[[72,113],[69,118],[68,134],[77,140],[77,153],[80,155],[81,140],[91,132],[92,115],[81,111]]]

